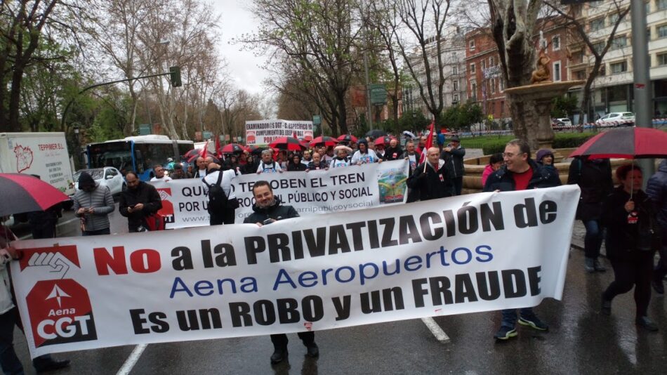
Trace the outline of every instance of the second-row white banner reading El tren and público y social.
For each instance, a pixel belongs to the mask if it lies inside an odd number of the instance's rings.
[[[239,201],[236,223],[249,216],[255,199],[252,187],[268,180],[273,193],[284,204],[294,206],[301,216],[368,209],[383,204],[403,203],[407,199],[408,162],[363,164],[328,171],[251,173],[233,180],[232,189]],[[161,216],[166,228],[209,225],[208,189],[198,178],[152,183],[162,198]]]

